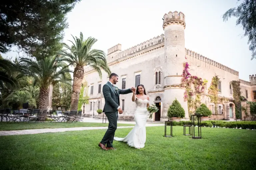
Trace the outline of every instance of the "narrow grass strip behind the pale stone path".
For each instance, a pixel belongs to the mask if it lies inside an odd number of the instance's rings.
[[[54,123],[54,122],[45,122],[45,123],[6,123],[0,122],[0,130],[24,130],[24,129],[45,129],[45,128],[74,128],[74,127],[106,127],[108,123]],[[117,124],[117,126],[134,126],[134,124]]]

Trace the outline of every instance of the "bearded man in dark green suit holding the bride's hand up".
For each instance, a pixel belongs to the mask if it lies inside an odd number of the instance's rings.
[[[109,81],[103,86],[102,92],[105,98],[105,106],[103,109],[103,112],[108,118],[108,129],[103,136],[101,142],[99,143],[99,146],[103,150],[111,150],[115,149],[113,148],[113,140],[115,131],[117,128],[117,118],[118,113],[122,114],[123,111],[120,108],[120,102],[119,102],[119,94],[128,94],[132,93],[135,88],[132,87],[130,89],[121,90],[114,86],[118,82],[118,75],[115,73],[110,74]],[[107,147],[105,146],[107,144]]]

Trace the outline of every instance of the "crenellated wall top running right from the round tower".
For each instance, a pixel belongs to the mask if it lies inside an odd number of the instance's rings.
[[[232,74],[235,74],[235,75],[239,76],[239,72],[238,71],[233,70],[233,69],[231,69],[231,68],[229,68],[229,67],[227,67],[225,65],[222,65],[222,64],[220,64],[220,63],[218,63],[218,62],[216,62],[216,61],[214,61],[212,59],[209,59],[209,58],[207,58],[205,56],[202,56],[201,54],[198,54],[195,51],[191,51],[191,50],[185,48],[185,54],[187,54],[189,56],[192,56],[194,58],[197,58],[199,60],[202,60],[202,61],[204,61],[204,62],[206,62],[208,64],[211,64],[211,65],[213,65],[215,67],[218,67],[218,68],[220,68],[222,70],[225,70],[225,71],[227,71],[229,73],[232,73]]]

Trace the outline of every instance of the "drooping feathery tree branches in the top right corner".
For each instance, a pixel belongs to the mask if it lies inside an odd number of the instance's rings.
[[[240,0],[237,0],[240,1]],[[230,8],[222,16],[223,21],[236,17],[236,25],[242,25],[244,36],[248,36],[249,49],[252,51],[252,58],[256,58],[256,1],[243,0],[237,8]]]

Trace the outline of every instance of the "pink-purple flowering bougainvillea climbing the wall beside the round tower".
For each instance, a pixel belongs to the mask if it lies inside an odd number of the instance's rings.
[[[201,93],[205,90],[205,84],[207,80],[192,76],[189,73],[189,64],[187,62],[183,63],[184,69],[182,73],[181,86],[186,87],[186,91],[184,92],[184,101],[188,102],[188,113],[189,117],[193,113],[193,109],[195,110],[201,104]],[[194,85],[194,91],[191,85]],[[195,101],[193,100],[193,94],[196,93]]]

